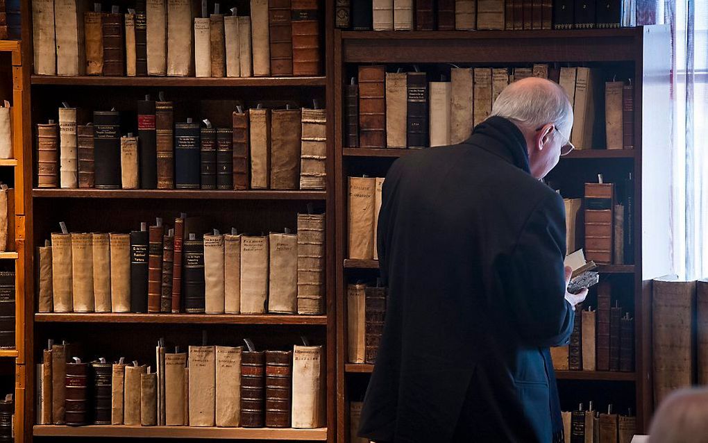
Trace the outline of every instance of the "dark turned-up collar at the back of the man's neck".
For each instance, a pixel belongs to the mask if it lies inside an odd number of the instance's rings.
[[[519,128],[506,118],[487,118],[474,127],[472,136],[464,143],[491,152],[531,174],[526,140]]]

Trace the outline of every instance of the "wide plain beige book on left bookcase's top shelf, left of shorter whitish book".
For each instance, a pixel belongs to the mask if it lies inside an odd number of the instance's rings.
[[[191,48],[192,1],[167,0],[167,75],[192,74]]]

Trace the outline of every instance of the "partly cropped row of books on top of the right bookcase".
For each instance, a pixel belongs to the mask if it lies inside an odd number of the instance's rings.
[[[336,26],[353,30],[531,30],[636,26],[632,0],[345,0]]]

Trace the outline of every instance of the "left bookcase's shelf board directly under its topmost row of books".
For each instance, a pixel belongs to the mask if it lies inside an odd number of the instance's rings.
[[[326,77],[103,77],[33,75],[32,84],[55,86],[326,86]]]

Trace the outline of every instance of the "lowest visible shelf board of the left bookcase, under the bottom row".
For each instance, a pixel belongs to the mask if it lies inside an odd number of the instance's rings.
[[[89,425],[57,426],[35,425],[35,437],[139,437],[139,438],[194,438],[194,439],[249,439],[300,440],[327,439],[327,428],[276,429],[244,427],[188,427],[188,426],[128,426]]]

